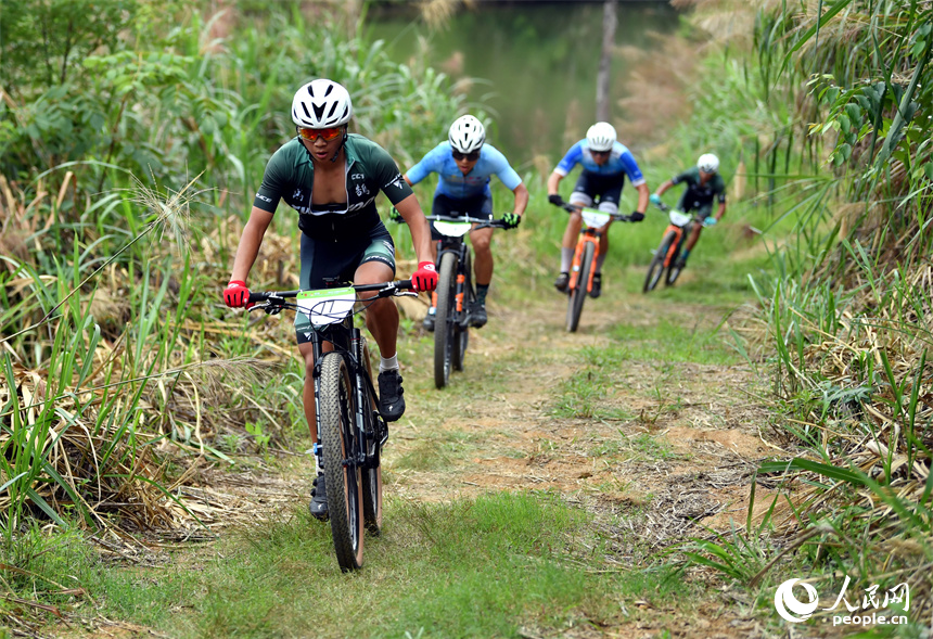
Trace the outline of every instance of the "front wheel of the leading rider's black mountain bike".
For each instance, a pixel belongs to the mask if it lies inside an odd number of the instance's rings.
[[[324,355],[321,363],[320,436],[324,448],[328,514],[334,551],[344,572],[362,566],[362,481],[356,461],[354,394],[343,356]]]

